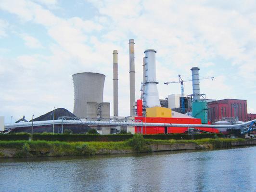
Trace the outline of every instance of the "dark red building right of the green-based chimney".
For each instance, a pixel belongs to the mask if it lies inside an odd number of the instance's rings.
[[[211,123],[222,118],[238,118],[239,121],[248,121],[247,101],[240,99],[223,99],[214,102],[207,102],[208,120]]]

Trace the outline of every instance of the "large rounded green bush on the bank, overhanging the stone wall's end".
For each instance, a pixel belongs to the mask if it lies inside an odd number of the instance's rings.
[[[135,134],[128,140],[128,145],[136,152],[148,151],[147,143],[141,134]]]

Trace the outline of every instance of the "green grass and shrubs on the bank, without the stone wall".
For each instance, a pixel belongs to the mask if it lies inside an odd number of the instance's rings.
[[[64,142],[64,141],[0,141],[0,148],[17,149],[15,156],[63,156],[63,155],[91,155],[107,154],[113,150],[149,151],[151,144],[175,144],[191,143],[197,145],[211,145],[211,148],[230,146],[233,141],[245,141],[244,139],[200,139],[200,140],[153,140],[134,136],[128,141],[90,141],[90,142]],[[226,144],[225,144],[226,143]],[[2,156],[2,155],[0,155]]]

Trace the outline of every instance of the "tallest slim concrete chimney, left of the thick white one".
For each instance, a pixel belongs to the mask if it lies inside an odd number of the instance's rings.
[[[134,116],[133,105],[135,103],[135,66],[134,66],[134,39],[129,39],[130,55],[130,115]]]

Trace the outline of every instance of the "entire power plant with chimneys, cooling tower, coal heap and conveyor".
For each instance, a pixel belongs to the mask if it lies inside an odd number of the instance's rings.
[[[183,81],[166,82],[180,83],[181,94],[170,94],[160,100],[157,89],[156,63],[157,51],[144,51],[143,82],[141,97],[135,98],[135,62],[134,39],[129,39],[129,90],[130,116],[118,115],[118,51],[113,51],[113,115],[110,114],[110,102],[103,101],[105,75],[99,73],[77,73],[73,75],[74,111],[67,113],[65,109],[56,109],[45,118],[21,120],[18,123],[4,124],[0,118],[1,130],[5,133],[26,131],[31,127],[36,132],[63,133],[64,129],[72,129],[75,133],[85,133],[95,128],[101,134],[111,134],[124,129],[131,133],[200,134],[239,130],[250,133],[256,128],[256,114],[247,114],[246,100],[224,99],[206,100],[200,92],[200,69],[191,68],[192,94],[184,95]],[[142,60],[142,58],[141,58]],[[137,89],[139,90],[139,89]],[[56,113],[55,113],[56,112]],[[43,116],[43,115],[42,115]],[[25,118],[24,118],[25,119]]]

